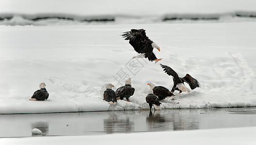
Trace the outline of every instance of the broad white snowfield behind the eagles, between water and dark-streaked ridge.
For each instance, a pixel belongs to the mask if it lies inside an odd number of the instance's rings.
[[[0,113],[51,113],[148,109],[147,83],[173,86],[158,64],[137,53],[121,36],[144,28],[161,51],[159,63],[201,87],[182,93],[162,108],[256,106],[255,22],[0,27]],[[132,78],[131,102],[110,106],[104,85]],[[49,99],[29,101],[45,82]],[[178,96],[177,92],[175,94]],[[177,104],[179,102],[179,104]]]

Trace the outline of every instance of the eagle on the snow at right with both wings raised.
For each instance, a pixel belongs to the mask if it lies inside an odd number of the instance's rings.
[[[171,92],[174,92],[175,90],[178,90],[179,93],[190,92],[190,89],[184,85],[184,82],[188,83],[191,89],[201,87],[200,83],[191,75],[186,74],[184,77],[179,77],[178,74],[172,68],[162,64],[160,64],[160,66],[163,68],[163,71],[165,71],[165,73],[173,76],[174,86]]]

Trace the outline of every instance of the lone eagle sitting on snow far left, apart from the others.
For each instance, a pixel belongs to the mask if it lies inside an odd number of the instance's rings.
[[[44,101],[47,100],[49,97],[49,93],[46,90],[46,85],[45,83],[40,83],[39,84],[39,88],[38,90],[36,90],[33,94],[33,96],[31,97],[30,101]]]

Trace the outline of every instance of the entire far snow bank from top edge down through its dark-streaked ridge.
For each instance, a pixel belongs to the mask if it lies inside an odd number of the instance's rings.
[[[1,0],[0,25],[255,21],[255,0]]]

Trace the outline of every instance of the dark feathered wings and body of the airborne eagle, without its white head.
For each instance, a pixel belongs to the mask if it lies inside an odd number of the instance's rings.
[[[131,29],[128,32],[124,32],[122,36],[125,40],[129,40],[134,50],[138,53],[153,53],[153,47],[151,41],[145,33],[144,29]]]

